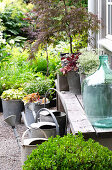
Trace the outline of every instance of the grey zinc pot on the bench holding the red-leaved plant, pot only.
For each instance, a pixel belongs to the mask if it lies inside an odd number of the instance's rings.
[[[69,71],[67,73],[67,80],[69,85],[69,91],[74,94],[81,94],[80,76],[75,71]]]

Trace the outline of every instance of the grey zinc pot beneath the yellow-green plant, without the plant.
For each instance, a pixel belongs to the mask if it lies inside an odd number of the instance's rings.
[[[16,122],[21,123],[21,112],[24,110],[24,103],[21,100],[2,99],[2,107],[4,119],[10,115],[16,115]]]

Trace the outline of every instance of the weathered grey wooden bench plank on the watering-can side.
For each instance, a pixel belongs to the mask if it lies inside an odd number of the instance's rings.
[[[88,121],[84,110],[82,109],[79,101],[77,100],[77,97],[73,93],[65,91],[61,92],[61,94],[67,107],[68,120],[72,133],[95,133],[94,128]]]

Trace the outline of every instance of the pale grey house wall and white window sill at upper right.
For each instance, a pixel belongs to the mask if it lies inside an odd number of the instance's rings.
[[[106,0],[88,0],[88,11],[98,15],[101,20],[98,34],[93,34],[95,41],[94,48],[100,48],[109,56],[110,67],[112,68],[112,41],[106,38]]]

